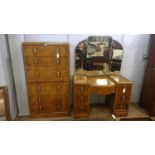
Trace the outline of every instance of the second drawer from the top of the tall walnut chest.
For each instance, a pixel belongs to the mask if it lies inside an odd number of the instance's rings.
[[[24,57],[25,67],[59,67],[61,69],[69,68],[68,57]]]

